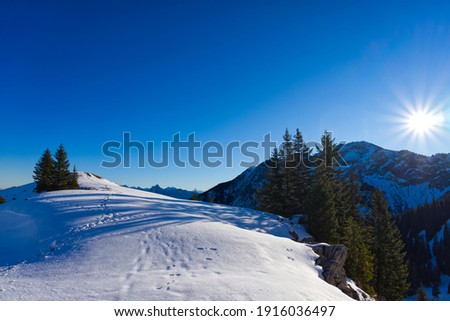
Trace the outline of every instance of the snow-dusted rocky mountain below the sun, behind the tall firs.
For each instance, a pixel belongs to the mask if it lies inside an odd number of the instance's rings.
[[[450,154],[427,157],[406,150],[383,149],[368,142],[352,142],[342,147],[341,155],[349,165],[340,168],[341,175],[356,174],[366,200],[374,188],[383,191],[395,214],[450,192]],[[249,168],[235,179],[202,193],[200,199],[254,208],[254,196],[266,171],[264,163]]]

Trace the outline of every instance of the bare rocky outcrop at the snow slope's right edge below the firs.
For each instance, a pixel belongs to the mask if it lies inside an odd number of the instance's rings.
[[[340,289],[349,297],[359,300],[358,293],[347,283],[347,274],[344,269],[347,248],[342,244],[328,245],[320,243],[310,246],[319,255],[316,264],[322,267],[323,279]]]

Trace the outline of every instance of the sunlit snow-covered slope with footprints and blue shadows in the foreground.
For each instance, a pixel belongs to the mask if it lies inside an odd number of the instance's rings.
[[[2,191],[0,300],[350,300],[276,216],[79,182]]]

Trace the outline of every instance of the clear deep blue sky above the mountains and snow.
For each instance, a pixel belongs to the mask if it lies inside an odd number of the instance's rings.
[[[0,188],[31,182],[61,143],[78,170],[142,187],[206,190],[248,160],[139,168],[135,148],[129,168],[105,168],[104,144],[124,133],[154,142],[156,158],[177,133],[226,146],[280,142],[285,128],[449,153],[448,12],[449,1],[1,1]]]

